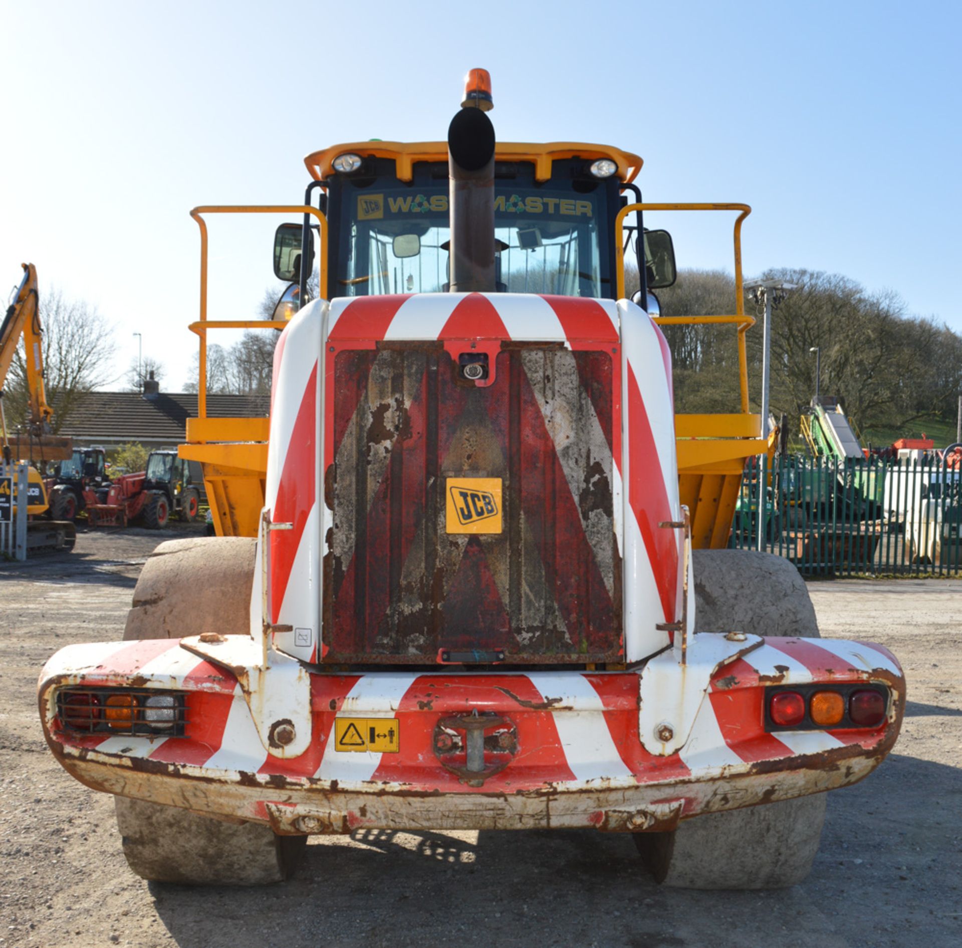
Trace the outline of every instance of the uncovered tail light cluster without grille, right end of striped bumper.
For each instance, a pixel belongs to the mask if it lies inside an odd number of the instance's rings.
[[[889,690],[864,684],[773,686],[765,699],[765,730],[851,730],[884,723]]]

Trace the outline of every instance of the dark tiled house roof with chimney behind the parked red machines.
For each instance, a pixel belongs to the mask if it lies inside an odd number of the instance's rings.
[[[111,450],[136,441],[145,448],[176,448],[185,441],[187,420],[197,417],[196,393],[168,394],[152,378],[139,392],[90,392],[71,408],[60,434],[80,448]],[[266,418],[270,397],[208,395],[210,418]]]

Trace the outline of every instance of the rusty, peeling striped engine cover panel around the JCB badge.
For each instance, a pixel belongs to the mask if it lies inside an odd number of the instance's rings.
[[[611,353],[502,344],[475,385],[457,349],[335,357],[325,662],[623,660]],[[446,531],[448,477],[501,479],[499,533]]]

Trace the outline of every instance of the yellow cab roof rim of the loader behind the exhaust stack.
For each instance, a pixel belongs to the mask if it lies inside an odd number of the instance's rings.
[[[446,162],[446,141],[349,141],[314,151],[304,159],[311,177],[324,181],[334,173],[334,159],[351,153],[362,158],[393,158],[397,177],[410,181],[415,162]],[[547,181],[551,177],[551,163],[566,158],[583,158],[595,161],[610,158],[617,166],[615,172],[625,183],[635,180],[642,167],[642,159],[630,151],[622,151],[611,145],[587,144],[582,141],[547,141],[532,144],[524,141],[498,141],[494,158],[499,162],[531,162],[535,166],[535,180]]]

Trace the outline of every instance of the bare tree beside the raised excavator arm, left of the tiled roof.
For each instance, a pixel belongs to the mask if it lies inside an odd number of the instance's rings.
[[[65,299],[57,289],[39,295],[38,312],[43,327],[43,380],[54,409],[56,434],[86,393],[111,380],[114,326],[95,306]],[[8,419],[23,423],[29,397],[22,343],[7,376],[6,392]]]

